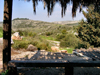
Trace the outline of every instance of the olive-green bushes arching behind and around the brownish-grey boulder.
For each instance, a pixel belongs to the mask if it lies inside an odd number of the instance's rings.
[[[20,49],[20,48],[27,49],[29,44],[32,44],[39,49],[50,51],[49,42],[40,38],[32,38],[32,37],[26,37],[23,40],[14,40],[14,44],[12,45],[12,47],[14,49]]]

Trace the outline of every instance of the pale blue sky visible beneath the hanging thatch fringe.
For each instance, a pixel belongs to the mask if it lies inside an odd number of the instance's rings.
[[[3,21],[3,8],[4,8],[4,0],[0,2],[0,21]],[[86,8],[83,8],[86,10]],[[47,9],[44,10],[43,2],[39,2],[36,7],[36,15],[33,13],[33,4],[32,1],[27,2],[24,0],[13,0],[13,8],[12,8],[12,19],[14,18],[29,18],[31,20],[41,20],[46,22],[54,22],[54,21],[76,21],[85,19],[82,13],[79,13],[79,9],[77,9],[76,17],[72,18],[72,4],[69,3],[67,5],[67,10],[65,16],[61,17],[61,7],[60,4],[56,4],[54,7],[54,11],[51,16],[48,17]]]

